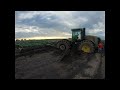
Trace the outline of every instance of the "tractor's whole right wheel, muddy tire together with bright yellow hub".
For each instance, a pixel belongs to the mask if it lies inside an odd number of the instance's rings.
[[[78,45],[78,50],[85,53],[93,53],[95,51],[95,46],[91,41],[83,40]]]

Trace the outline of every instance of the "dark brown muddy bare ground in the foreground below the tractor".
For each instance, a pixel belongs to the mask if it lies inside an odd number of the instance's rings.
[[[71,53],[44,47],[31,55],[15,59],[15,79],[104,79],[105,56],[99,53]]]

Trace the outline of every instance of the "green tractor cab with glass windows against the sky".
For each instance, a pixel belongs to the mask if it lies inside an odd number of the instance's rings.
[[[85,37],[85,28],[72,29],[72,41],[82,40]]]

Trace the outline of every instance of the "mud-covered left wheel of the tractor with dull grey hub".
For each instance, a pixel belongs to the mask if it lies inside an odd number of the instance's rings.
[[[68,40],[61,40],[57,42],[57,48],[60,50],[68,50],[70,48],[70,42]]]

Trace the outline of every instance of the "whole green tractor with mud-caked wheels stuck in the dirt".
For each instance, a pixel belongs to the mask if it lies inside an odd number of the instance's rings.
[[[98,49],[101,39],[97,36],[85,35],[85,28],[72,29],[72,39],[58,41],[57,48],[65,51],[76,48],[78,51],[93,53]]]

